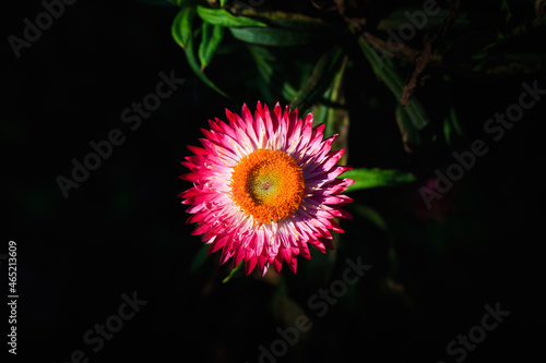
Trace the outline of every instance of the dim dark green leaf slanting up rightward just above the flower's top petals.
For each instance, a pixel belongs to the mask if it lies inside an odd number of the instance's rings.
[[[342,53],[343,48],[334,46],[322,55],[314,65],[309,81],[290,102],[290,108],[294,109],[297,107],[300,110],[306,110],[318,97],[322,96],[340,69]]]

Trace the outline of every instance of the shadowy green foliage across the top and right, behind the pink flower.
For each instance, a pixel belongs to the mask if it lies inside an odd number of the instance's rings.
[[[464,142],[458,105],[441,96],[459,77],[497,80],[544,71],[545,56],[533,47],[544,31],[542,1],[171,2],[180,8],[173,36],[201,81],[226,97],[242,98],[242,88],[250,88],[265,102],[312,111],[316,123],[327,124],[327,136],[339,134],[334,148],[348,153],[355,108],[377,108],[378,99],[385,108],[383,98],[366,89],[392,95],[393,137],[412,154],[439,142],[448,148]],[[426,97],[429,83],[439,98]],[[361,158],[352,164],[355,169],[343,176],[356,180],[348,192],[416,181],[408,171],[364,168]],[[384,231],[373,208],[356,205],[354,211]],[[195,257],[192,270],[203,256]],[[318,257],[311,264],[334,261]]]

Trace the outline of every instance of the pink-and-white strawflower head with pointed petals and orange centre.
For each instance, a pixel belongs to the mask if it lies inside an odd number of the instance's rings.
[[[345,150],[332,152],[337,135],[323,140],[324,125],[313,128],[312,113],[298,120],[289,106],[270,113],[258,102],[252,117],[244,105],[241,117],[226,117],[209,120],[203,147],[188,146],[194,155],[182,161],[191,172],[180,178],[193,183],[179,195],[198,223],[192,234],[203,234],[209,253],[222,249],[221,264],[245,261],[247,275],[271,264],[278,273],[283,261],[296,273],[309,245],[333,247],[330,230],[343,232],[333,218],[351,218],[340,205],[352,199],[340,193],[354,181],[337,178],[351,168],[336,166]]]

